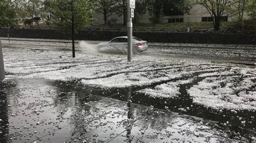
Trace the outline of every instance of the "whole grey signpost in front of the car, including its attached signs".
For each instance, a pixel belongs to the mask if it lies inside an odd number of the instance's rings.
[[[135,0],[127,3],[127,58],[132,61],[132,18],[134,17]]]

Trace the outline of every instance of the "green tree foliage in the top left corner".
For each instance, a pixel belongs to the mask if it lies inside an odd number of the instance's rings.
[[[17,25],[15,4],[11,0],[0,0],[0,27]]]

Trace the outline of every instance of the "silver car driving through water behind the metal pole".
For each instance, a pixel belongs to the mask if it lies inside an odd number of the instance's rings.
[[[109,42],[103,42],[99,44],[100,47],[114,47],[114,48],[126,48],[127,49],[127,36],[116,37]],[[147,50],[147,41],[132,37],[133,52],[143,52]]]

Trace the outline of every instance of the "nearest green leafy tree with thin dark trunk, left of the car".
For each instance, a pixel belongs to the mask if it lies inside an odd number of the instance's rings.
[[[56,0],[50,1],[47,9],[51,14],[52,25],[60,32],[71,33],[72,56],[75,58],[75,33],[93,20],[91,16],[96,9],[96,3],[87,0]]]

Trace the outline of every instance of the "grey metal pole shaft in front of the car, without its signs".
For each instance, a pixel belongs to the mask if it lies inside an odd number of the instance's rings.
[[[132,61],[132,18],[131,18],[131,9],[130,9],[130,1],[128,0],[127,3],[127,42],[128,42],[128,46],[127,46],[127,54],[128,54],[128,61],[131,62]]]

